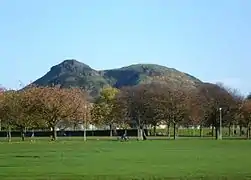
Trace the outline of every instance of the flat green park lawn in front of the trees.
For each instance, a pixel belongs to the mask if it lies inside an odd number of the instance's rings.
[[[251,141],[0,143],[1,180],[251,179]]]

